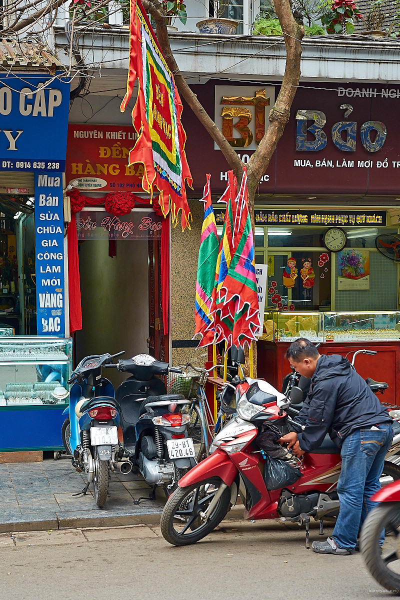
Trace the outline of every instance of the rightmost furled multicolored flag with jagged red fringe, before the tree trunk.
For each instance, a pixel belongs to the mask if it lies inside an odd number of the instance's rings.
[[[255,332],[260,326],[246,170],[236,199],[228,204],[225,233],[226,247],[229,246],[229,250],[222,244],[227,271],[222,272],[222,275],[221,271],[219,272],[216,286],[214,318],[216,339],[226,340],[227,347],[231,344],[243,346],[256,339]],[[231,251],[230,248],[233,250]]]

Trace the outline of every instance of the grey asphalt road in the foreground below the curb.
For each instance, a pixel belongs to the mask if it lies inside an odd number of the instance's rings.
[[[324,539],[315,527],[313,539]],[[0,535],[1,600],[390,597],[359,554],[320,556],[297,525],[275,521],[225,521],[184,548],[156,525]]]

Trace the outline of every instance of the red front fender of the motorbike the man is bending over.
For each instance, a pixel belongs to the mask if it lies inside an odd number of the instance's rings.
[[[178,485],[179,487],[187,487],[188,485],[198,484],[210,477],[219,477],[224,484],[230,486],[234,482],[236,473],[237,468],[226,452],[217,449],[210,456],[204,458],[196,467],[190,469],[182,479],[179,479]]]

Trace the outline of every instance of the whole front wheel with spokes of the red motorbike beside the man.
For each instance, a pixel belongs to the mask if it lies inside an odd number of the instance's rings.
[[[205,538],[228,512],[230,488],[225,488],[210,517],[203,521],[204,512],[219,490],[222,481],[217,477],[180,488],[169,497],[161,515],[161,533],[170,544],[186,546]]]

